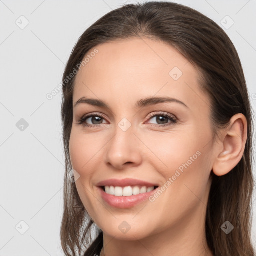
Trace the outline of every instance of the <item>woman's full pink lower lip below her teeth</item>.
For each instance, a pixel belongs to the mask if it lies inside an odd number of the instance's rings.
[[[130,195],[130,196],[115,196],[112,194],[107,194],[101,187],[97,187],[99,189],[100,195],[102,198],[112,207],[116,208],[131,208],[140,202],[146,200],[150,195],[155,193],[155,190],[152,190],[150,192],[142,193],[142,194],[136,194],[136,195]]]

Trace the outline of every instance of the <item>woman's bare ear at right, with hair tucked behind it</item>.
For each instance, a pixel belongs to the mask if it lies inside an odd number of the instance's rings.
[[[217,157],[212,171],[222,176],[231,171],[241,160],[247,140],[247,120],[239,113],[235,114],[227,128],[223,130],[222,139],[217,147]]]

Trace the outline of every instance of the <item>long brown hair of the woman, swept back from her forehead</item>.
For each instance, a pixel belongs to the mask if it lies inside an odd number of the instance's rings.
[[[142,36],[174,46],[198,68],[200,86],[211,99],[214,134],[237,113],[247,118],[247,141],[242,159],[226,175],[216,176],[211,172],[205,235],[214,255],[254,255],[251,244],[253,113],[239,56],[227,34],[214,21],[184,5],[159,1],[124,5],[101,17],[80,36],[66,64],[61,106],[65,179],[60,230],[65,255],[74,256],[76,250],[80,254],[83,246],[89,246],[94,223],[79,198],[75,183],[68,179],[72,168],[68,145],[75,75],[71,79],[67,77],[98,44]],[[225,221],[234,226],[229,234],[221,230]]]

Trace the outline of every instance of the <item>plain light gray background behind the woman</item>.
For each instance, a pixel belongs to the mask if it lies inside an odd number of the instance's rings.
[[[65,63],[84,30],[112,9],[135,2],[0,0],[0,255],[63,255],[62,92],[52,99],[46,95],[61,83]],[[238,51],[255,109],[256,0],[175,2],[220,26],[221,20],[226,27],[234,21],[230,28],[222,27]],[[29,24],[21,29],[26,20]],[[23,131],[21,118],[28,123]],[[254,217],[254,245],[255,233]]]

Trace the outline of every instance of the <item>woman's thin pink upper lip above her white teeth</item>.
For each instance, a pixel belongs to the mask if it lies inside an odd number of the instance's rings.
[[[124,179],[106,179],[102,180],[97,183],[97,186],[158,186],[157,184],[153,184],[147,181],[139,180],[139,179],[133,179],[133,178],[124,178]]]

